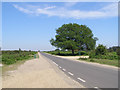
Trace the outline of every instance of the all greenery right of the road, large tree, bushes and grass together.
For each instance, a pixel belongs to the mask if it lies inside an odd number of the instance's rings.
[[[94,37],[92,30],[86,25],[76,23],[63,24],[56,29],[55,39],[50,43],[57,49],[46,53],[60,56],[89,56],[89,58],[79,58],[88,62],[97,62],[119,66],[120,47],[113,46],[107,48],[99,44],[96,47],[97,37]]]

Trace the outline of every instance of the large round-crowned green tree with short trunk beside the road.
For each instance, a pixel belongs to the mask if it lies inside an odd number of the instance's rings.
[[[56,30],[55,39],[51,39],[51,45],[61,48],[72,50],[92,50],[95,48],[96,37],[86,25],[79,25],[76,23],[64,24]]]

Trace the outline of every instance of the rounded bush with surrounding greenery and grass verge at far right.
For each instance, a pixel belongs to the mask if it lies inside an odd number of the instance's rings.
[[[79,58],[79,60],[84,60],[87,62],[96,62],[100,64],[107,64],[118,67],[119,58],[120,56],[118,55],[118,49],[111,51],[110,48],[106,49],[105,46],[99,45],[95,50],[89,52],[89,58]]]

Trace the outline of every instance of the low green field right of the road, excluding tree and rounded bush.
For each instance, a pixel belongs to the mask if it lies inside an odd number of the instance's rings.
[[[53,54],[53,55],[59,55],[59,56],[73,56],[71,51],[48,51],[46,53]],[[107,64],[107,65],[112,65],[112,66],[117,66],[118,67],[118,60],[119,56],[117,55],[116,52],[107,52],[106,55],[94,55],[93,52],[85,52],[81,51],[75,52],[74,56],[90,56],[90,58],[79,58],[79,60],[87,61],[87,62],[96,62],[100,64]]]

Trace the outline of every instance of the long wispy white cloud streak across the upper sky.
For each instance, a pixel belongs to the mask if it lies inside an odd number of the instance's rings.
[[[45,14],[48,16],[58,16],[63,18],[74,18],[74,19],[85,19],[85,18],[104,18],[104,17],[115,17],[118,15],[117,3],[109,4],[96,11],[83,11],[83,10],[69,10],[66,6],[73,6],[76,3],[66,3],[65,7],[50,6],[45,8],[24,8],[18,5],[14,5],[19,11],[27,14],[35,14],[37,16]]]

